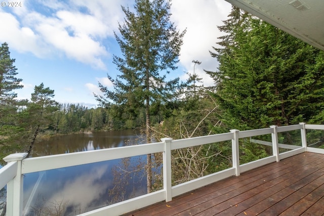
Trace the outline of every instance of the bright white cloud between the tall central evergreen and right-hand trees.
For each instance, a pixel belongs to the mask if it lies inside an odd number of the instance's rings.
[[[212,85],[213,79],[203,69],[215,71],[217,61],[212,58],[209,51],[221,35],[217,26],[222,25],[222,20],[230,12],[231,5],[225,1],[172,1],[172,19],[178,29],[187,28],[183,38],[180,64],[186,71],[193,73],[192,60],[201,61],[195,66],[195,73],[203,78],[205,86]],[[185,75],[181,78],[185,79]]]

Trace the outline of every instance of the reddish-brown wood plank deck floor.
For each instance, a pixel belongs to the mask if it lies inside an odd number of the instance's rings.
[[[298,154],[125,215],[324,215],[324,155]]]

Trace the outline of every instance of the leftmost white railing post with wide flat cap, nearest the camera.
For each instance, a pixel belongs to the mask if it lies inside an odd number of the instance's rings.
[[[21,174],[21,163],[27,155],[27,153],[15,153],[4,158],[7,163],[18,162],[17,175],[7,184],[7,215],[22,215],[23,175]]]

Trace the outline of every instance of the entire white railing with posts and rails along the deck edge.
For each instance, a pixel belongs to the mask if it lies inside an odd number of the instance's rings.
[[[8,164],[0,169],[0,188],[7,184],[7,215],[20,216],[22,212],[23,199],[23,175],[30,172],[44,171],[55,168],[75,166],[93,162],[107,161],[119,158],[126,158],[138,155],[163,152],[163,183],[162,190],[142,195],[116,204],[108,205],[87,213],[79,215],[119,215],[132,210],[154,204],[159,201],[171,201],[172,197],[194,190],[196,188],[211,184],[213,182],[231,177],[239,176],[244,172],[267,163],[279,161],[305,151],[322,153],[324,150],[307,147],[306,129],[324,130],[324,125],[311,125],[300,123],[290,126],[270,126],[270,128],[255,129],[251,131],[231,130],[229,133],[196,137],[182,140],[161,139],[162,142],[126,146],[87,152],[76,152],[34,158],[25,158],[26,153],[11,154],[4,158]],[[284,145],[278,143],[278,133],[300,130],[301,146]],[[271,134],[271,142],[251,141],[263,145],[271,145],[273,155],[252,161],[246,164],[239,164],[238,139],[251,138],[255,136]],[[180,185],[171,184],[171,151],[180,148],[217,143],[223,141],[232,142],[232,167],[204,176]],[[288,152],[279,153],[279,148],[290,149]]]

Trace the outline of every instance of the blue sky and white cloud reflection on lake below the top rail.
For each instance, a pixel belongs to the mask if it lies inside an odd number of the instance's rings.
[[[66,209],[79,211],[104,205],[105,201],[101,198],[107,194],[107,189],[112,185],[107,172],[109,172],[109,164],[96,164],[91,167],[82,165],[46,171],[40,184],[37,185],[36,182],[26,188],[28,200],[25,213],[28,215],[38,210],[35,209],[37,206],[52,209],[59,203]],[[25,179],[27,178],[29,176]],[[33,190],[36,193],[32,194]]]

